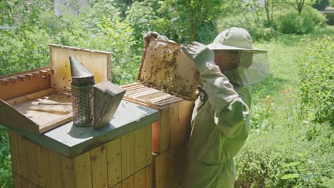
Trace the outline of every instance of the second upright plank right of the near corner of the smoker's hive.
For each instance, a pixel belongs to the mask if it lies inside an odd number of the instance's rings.
[[[93,188],[108,187],[106,144],[91,150],[91,177]]]

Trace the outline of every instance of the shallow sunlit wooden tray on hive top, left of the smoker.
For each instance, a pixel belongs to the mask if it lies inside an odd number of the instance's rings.
[[[40,134],[72,120],[71,105],[43,105],[40,103],[71,104],[71,95],[53,88],[12,100],[0,100],[0,123]],[[34,110],[33,110],[34,109]]]

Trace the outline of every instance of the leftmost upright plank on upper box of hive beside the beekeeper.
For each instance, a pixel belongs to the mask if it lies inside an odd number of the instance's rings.
[[[171,142],[171,126],[169,123],[169,111],[170,108],[163,108],[160,113],[160,150],[158,152],[164,152],[168,150]]]

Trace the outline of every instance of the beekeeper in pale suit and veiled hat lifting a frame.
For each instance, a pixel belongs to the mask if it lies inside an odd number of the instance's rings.
[[[146,33],[151,36],[168,40]],[[267,51],[255,48],[248,31],[236,27],[208,46],[193,42],[181,49],[195,62],[201,81],[191,120],[186,187],[233,187],[233,157],[250,129],[251,84],[268,76]]]

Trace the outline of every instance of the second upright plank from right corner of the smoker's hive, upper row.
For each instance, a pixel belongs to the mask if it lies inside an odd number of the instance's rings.
[[[133,132],[134,172],[146,166],[146,126]]]

